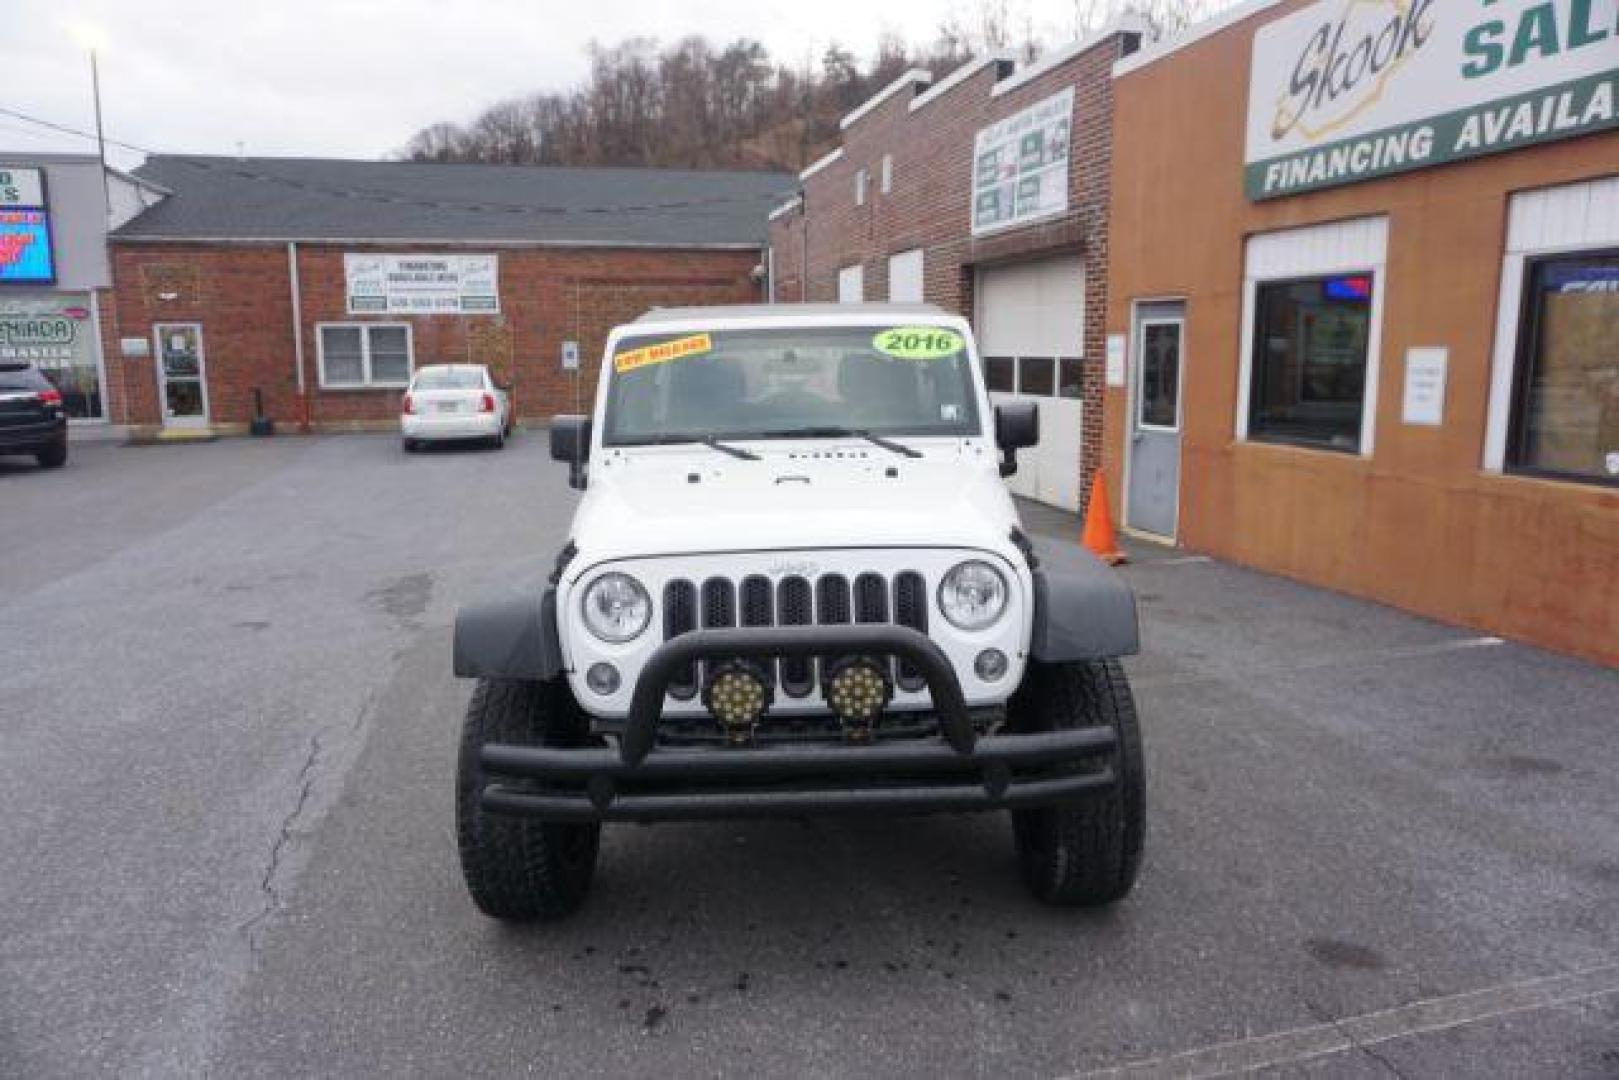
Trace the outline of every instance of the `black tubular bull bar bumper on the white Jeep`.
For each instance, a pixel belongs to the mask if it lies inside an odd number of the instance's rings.
[[[654,748],[670,678],[719,657],[886,654],[926,678],[939,737],[869,745]],[[895,625],[698,630],[659,646],[635,685],[618,748],[486,745],[487,811],[541,821],[682,821],[824,813],[1026,808],[1114,784],[1111,727],[973,730],[949,657]]]

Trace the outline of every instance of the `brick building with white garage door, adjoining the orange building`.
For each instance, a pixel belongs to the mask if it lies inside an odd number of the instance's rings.
[[[771,212],[776,301],[895,300],[973,319],[991,395],[1036,398],[1013,491],[1080,508],[1101,460],[1112,65],[1133,19],[1017,66],[908,71]]]

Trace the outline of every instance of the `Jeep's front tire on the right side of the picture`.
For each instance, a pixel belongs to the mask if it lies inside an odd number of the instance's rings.
[[[1012,699],[1012,727],[1049,732],[1109,725],[1119,737],[1115,784],[1080,801],[1012,811],[1023,882],[1059,907],[1124,899],[1141,866],[1146,769],[1130,682],[1117,661],[1033,662]]]

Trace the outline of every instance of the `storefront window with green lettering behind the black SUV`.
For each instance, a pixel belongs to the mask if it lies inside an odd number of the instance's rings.
[[[0,295],[0,361],[32,363],[73,419],[105,419],[89,293]]]

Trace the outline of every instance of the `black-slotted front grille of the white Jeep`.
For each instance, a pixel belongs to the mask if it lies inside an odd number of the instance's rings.
[[[905,570],[892,580],[881,573],[861,573],[853,586],[840,573],[824,573],[813,583],[790,575],[771,588],[769,578],[750,575],[738,588],[730,578],[709,578],[701,585],[685,580],[664,586],[664,640],[703,628],[735,627],[738,612],[743,627],[808,627],[894,622],[928,633],[928,583],[921,573]],[[892,661],[886,661],[890,662]],[[806,698],[816,687],[814,662],[787,657],[771,662],[771,674],[788,698]],[[897,665],[900,690],[926,687],[911,664]],[[669,683],[669,693],[690,701],[701,687],[696,664],[686,665]]]

